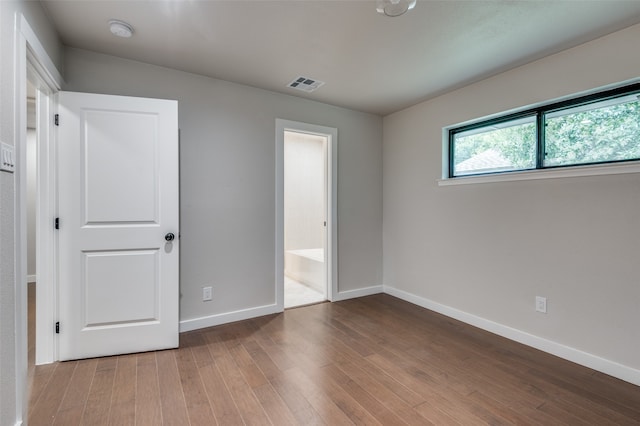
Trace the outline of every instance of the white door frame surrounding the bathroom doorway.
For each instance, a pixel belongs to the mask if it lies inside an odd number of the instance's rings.
[[[284,310],[284,132],[327,138],[327,299],[338,295],[338,129],[276,119],[276,305]]]

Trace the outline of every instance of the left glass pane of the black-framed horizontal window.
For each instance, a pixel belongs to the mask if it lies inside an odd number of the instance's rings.
[[[528,116],[456,133],[453,176],[536,167],[536,118]]]

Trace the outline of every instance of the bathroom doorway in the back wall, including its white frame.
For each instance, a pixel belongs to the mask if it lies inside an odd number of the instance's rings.
[[[276,302],[337,294],[337,129],[276,120]]]

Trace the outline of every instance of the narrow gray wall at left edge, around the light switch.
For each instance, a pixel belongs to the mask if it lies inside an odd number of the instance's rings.
[[[40,3],[0,1],[0,140],[15,145],[14,122],[15,15],[22,13],[59,70],[62,46]],[[15,175],[0,172],[0,425],[13,425],[20,418],[16,407],[16,379],[26,383],[26,370],[16,371],[16,279],[15,262]],[[19,410],[19,408],[18,408]]]

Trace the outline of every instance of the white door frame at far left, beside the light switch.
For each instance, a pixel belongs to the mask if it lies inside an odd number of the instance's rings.
[[[15,72],[13,104],[15,111],[15,140],[16,154],[15,180],[15,327],[16,327],[16,419],[22,420],[27,410],[27,75],[34,79],[39,86],[37,106],[40,116],[38,118],[38,155],[45,152],[42,159],[38,160],[38,184],[48,179],[55,178],[55,146],[52,114],[55,108],[54,94],[62,87],[62,76],[56,69],[53,61],[47,54],[44,46],[38,40],[35,32],[21,13],[15,16]],[[28,74],[27,74],[28,73]],[[55,181],[53,181],[55,183]],[[51,186],[51,182],[48,184]],[[49,223],[47,215],[55,212],[55,192],[45,194],[43,188],[39,188],[37,195],[37,217],[39,228],[42,223]],[[49,279],[46,292],[39,291],[38,298],[42,297],[44,316],[54,317],[55,299],[45,299],[48,294],[55,296],[55,270],[54,248],[55,240],[53,228],[49,231],[39,232],[37,245],[39,252],[37,274],[42,279]],[[45,286],[43,286],[45,287]],[[41,317],[43,315],[40,315]],[[42,319],[42,318],[41,318]],[[44,319],[42,319],[44,321]],[[37,342],[36,347],[42,351],[38,360],[40,363],[54,361],[54,336],[53,323],[49,323],[49,333],[44,341]]]

